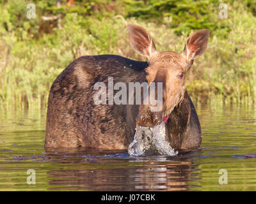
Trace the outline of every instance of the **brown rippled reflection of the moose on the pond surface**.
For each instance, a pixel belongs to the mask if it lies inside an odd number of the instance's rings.
[[[190,159],[182,157],[145,157],[116,161],[116,158],[104,159],[99,156],[94,162],[84,162],[84,169],[81,161],[77,161],[77,168],[80,166],[82,169],[48,171],[49,177],[52,178],[49,181],[49,189],[187,190],[193,168]]]

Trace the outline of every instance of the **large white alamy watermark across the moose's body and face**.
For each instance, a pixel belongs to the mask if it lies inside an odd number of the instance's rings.
[[[157,87],[157,88],[156,88]],[[143,88],[143,100],[141,99],[141,88]],[[135,89],[135,93],[134,93]],[[114,85],[113,77],[108,77],[107,85],[104,82],[97,82],[93,85],[93,90],[97,92],[93,95],[93,101],[96,105],[149,105],[152,112],[161,111],[163,108],[163,82],[129,82],[128,88],[124,82],[117,82]],[[118,91],[119,90],[119,91]],[[114,91],[116,94],[114,95]],[[157,92],[157,99],[156,99]]]

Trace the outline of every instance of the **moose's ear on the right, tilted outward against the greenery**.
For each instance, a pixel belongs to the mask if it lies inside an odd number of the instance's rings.
[[[210,31],[208,29],[196,31],[191,34],[186,42],[182,55],[184,55],[188,61],[193,61],[193,59],[202,55],[207,47],[209,34]]]

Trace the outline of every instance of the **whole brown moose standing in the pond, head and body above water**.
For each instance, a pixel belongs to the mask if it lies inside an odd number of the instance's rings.
[[[181,53],[157,52],[147,30],[127,25],[131,47],[147,61],[120,55],[79,57],[54,80],[49,93],[45,148],[85,147],[127,150],[136,125],[152,128],[164,122],[165,140],[175,150],[200,149],[202,133],[185,78],[196,57],[207,48],[209,30],[191,34]],[[163,84],[163,106],[153,112],[151,103],[95,104],[97,82],[152,82]]]

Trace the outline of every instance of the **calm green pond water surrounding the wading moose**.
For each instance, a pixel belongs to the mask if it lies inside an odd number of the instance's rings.
[[[255,191],[256,110],[197,108],[202,150],[174,157],[45,152],[45,111],[0,111],[0,191]],[[27,171],[35,170],[36,184]],[[227,184],[219,171],[227,170]],[[31,181],[31,180],[29,180]]]

